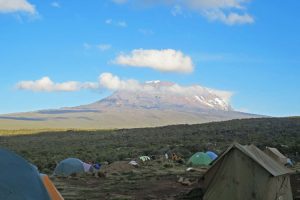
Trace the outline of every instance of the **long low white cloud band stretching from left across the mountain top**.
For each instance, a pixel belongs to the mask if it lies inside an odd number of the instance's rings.
[[[169,93],[174,95],[197,95],[212,94],[216,95],[225,102],[229,102],[232,92],[216,90],[200,85],[182,86],[177,83],[147,81],[141,83],[134,79],[121,79],[111,73],[102,73],[97,82],[77,82],[67,81],[55,83],[49,77],[43,77],[35,81],[20,81],[16,84],[19,90],[29,90],[34,92],[75,92],[79,90],[123,90],[123,91],[141,91],[153,94]]]

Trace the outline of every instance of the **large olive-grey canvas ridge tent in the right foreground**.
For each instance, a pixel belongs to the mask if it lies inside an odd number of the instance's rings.
[[[204,175],[204,200],[292,200],[291,170],[254,145],[231,145]]]

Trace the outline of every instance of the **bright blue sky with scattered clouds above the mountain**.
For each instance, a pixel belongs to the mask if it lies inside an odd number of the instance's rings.
[[[230,91],[241,111],[300,114],[298,1],[11,1],[0,0],[0,113],[97,101],[110,91],[87,85],[109,72]],[[168,69],[141,60],[171,54]],[[50,89],[36,87],[43,77]]]

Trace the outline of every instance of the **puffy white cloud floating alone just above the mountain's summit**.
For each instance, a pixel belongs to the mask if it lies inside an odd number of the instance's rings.
[[[113,63],[131,67],[147,67],[163,72],[193,71],[191,57],[173,49],[135,49],[129,55],[119,55]]]

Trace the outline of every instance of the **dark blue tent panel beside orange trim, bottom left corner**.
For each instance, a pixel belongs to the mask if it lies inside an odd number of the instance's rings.
[[[1,200],[50,200],[33,165],[4,149],[0,149],[0,161]]]

